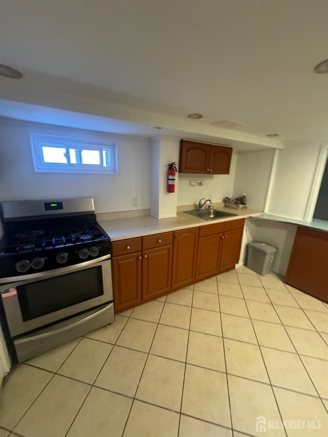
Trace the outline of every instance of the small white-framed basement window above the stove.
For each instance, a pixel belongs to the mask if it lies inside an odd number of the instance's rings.
[[[58,173],[117,173],[116,143],[30,134],[34,170]]]

